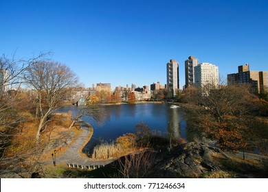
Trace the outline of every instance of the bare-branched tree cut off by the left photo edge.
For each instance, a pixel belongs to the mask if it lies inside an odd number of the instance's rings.
[[[40,53],[36,57],[15,59],[15,56],[0,57],[0,172],[19,172],[17,169],[25,159],[41,148],[32,147],[25,152],[19,150],[15,154],[9,154],[12,148],[17,147],[17,136],[21,134],[23,123],[29,121],[29,111],[32,107],[31,99],[27,93],[21,93],[23,74],[35,62],[40,62],[48,56],[48,53]],[[31,147],[24,146],[23,149]],[[35,158],[32,158],[32,161]]]

